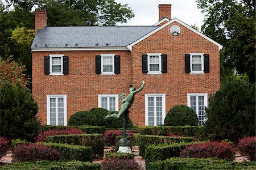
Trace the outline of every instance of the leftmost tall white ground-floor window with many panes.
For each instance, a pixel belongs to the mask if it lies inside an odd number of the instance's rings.
[[[47,125],[67,126],[67,95],[47,95]]]

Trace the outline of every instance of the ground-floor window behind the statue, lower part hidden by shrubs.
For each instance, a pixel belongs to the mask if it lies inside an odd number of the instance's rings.
[[[98,107],[118,111],[118,95],[98,95]]]

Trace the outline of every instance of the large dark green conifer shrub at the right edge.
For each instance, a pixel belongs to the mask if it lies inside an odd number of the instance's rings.
[[[242,137],[255,136],[255,83],[226,83],[209,97],[205,111],[208,138],[237,144]]]

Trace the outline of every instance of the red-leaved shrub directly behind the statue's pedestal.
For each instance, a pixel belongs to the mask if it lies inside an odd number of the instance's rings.
[[[131,131],[126,131],[130,135],[131,140],[135,140],[134,133]],[[107,130],[104,133],[104,143],[106,146],[115,146],[115,137],[122,136],[121,130]]]

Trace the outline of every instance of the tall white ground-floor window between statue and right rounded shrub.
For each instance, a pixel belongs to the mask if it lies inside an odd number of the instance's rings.
[[[164,124],[166,117],[166,95],[145,94],[146,125],[157,126]]]

